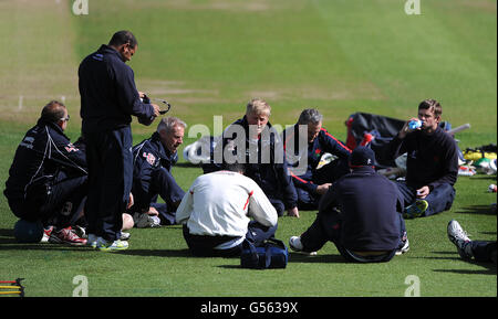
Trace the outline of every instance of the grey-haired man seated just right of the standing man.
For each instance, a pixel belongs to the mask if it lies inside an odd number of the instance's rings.
[[[186,127],[179,118],[163,118],[157,131],[133,148],[134,205],[129,212],[137,227],[176,224],[176,209],[185,192],[176,183],[172,167],[178,161]],[[164,203],[157,203],[158,195]]]

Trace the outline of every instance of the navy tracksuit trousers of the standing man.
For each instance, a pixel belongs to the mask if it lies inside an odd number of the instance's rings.
[[[133,182],[132,130],[129,126],[85,134],[89,164],[87,233],[116,241]]]

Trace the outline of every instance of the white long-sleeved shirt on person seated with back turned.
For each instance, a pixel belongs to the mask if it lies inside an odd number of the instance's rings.
[[[249,217],[264,226],[278,221],[261,188],[250,178],[230,171],[198,177],[176,211],[177,223],[187,224],[193,235],[245,236]]]

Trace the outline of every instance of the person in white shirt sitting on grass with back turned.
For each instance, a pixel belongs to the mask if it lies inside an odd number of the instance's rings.
[[[198,177],[176,211],[196,256],[237,256],[245,238],[259,246],[277,231],[276,209],[261,188],[242,174],[243,166],[225,167]]]

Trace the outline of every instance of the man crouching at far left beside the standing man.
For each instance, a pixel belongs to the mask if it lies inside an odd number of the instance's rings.
[[[86,159],[64,135],[69,119],[60,102],[43,107],[15,151],[3,194],[19,219],[54,225],[49,242],[84,245],[86,240],[71,223],[82,212],[87,192]]]

